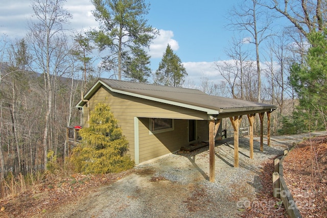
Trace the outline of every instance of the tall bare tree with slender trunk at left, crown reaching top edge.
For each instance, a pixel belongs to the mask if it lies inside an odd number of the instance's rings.
[[[36,21],[30,23],[28,39],[35,57],[34,71],[41,72],[44,80],[46,112],[44,117],[44,131],[42,145],[44,149],[44,169],[48,163],[48,133],[50,115],[53,110],[53,77],[60,70],[61,56],[67,51],[62,51],[65,42],[62,24],[72,16],[64,8],[64,0],[34,0],[32,8]],[[59,51],[60,50],[60,51]],[[58,57],[58,55],[60,55]]]

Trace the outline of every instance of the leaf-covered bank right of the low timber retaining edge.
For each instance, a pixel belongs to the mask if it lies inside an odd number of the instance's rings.
[[[327,214],[327,137],[303,141],[284,161],[284,179],[302,217]]]

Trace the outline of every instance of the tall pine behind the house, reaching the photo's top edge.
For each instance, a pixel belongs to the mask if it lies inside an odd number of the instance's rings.
[[[100,27],[90,32],[100,51],[109,50],[103,58],[107,70],[118,71],[122,79],[126,61],[133,49],[144,49],[150,45],[157,31],[147,25],[143,15],[148,13],[149,4],[144,0],[91,0],[95,6],[94,16]],[[134,54],[135,55],[135,54]]]

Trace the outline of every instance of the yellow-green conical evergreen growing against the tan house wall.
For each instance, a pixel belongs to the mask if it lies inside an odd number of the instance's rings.
[[[82,144],[74,148],[71,156],[77,172],[118,173],[134,166],[126,155],[128,141],[106,104],[99,103],[91,111],[89,127],[81,129],[79,135]]]

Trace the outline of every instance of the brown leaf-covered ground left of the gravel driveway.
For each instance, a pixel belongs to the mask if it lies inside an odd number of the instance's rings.
[[[129,173],[131,171],[100,176],[73,174],[60,180],[48,174],[34,190],[1,200],[0,217],[41,217],[47,210],[76,201],[96,191],[99,186],[113,183]]]

